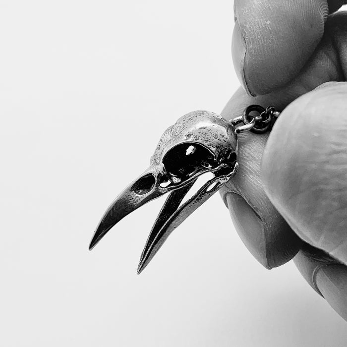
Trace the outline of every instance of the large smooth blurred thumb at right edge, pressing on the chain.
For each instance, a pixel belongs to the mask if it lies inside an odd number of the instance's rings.
[[[296,234],[347,264],[347,82],[292,102],[269,136],[265,191]]]

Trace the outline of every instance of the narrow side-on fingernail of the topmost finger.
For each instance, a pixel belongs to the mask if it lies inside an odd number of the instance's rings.
[[[234,30],[232,33],[231,54],[236,75],[243,89],[251,96],[255,96],[247,86],[244,76],[244,60],[246,57],[246,40],[244,39],[238,21],[235,21]]]

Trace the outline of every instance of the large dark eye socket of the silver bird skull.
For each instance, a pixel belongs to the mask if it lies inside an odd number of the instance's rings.
[[[167,173],[179,178],[188,177],[199,170],[212,168],[213,154],[203,145],[186,142],[173,147],[163,158]]]

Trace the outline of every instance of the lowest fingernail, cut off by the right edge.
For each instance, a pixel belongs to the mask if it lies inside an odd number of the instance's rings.
[[[316,272],[314,280],[329,305],[347,320],[347,267],[323,265]]]

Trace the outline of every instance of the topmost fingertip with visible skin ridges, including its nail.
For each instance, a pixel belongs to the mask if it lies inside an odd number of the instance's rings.
[[[264,95],[293,79],[310,58],[328,14],[325,0],[235,0],[232,56],[250,95]]]

